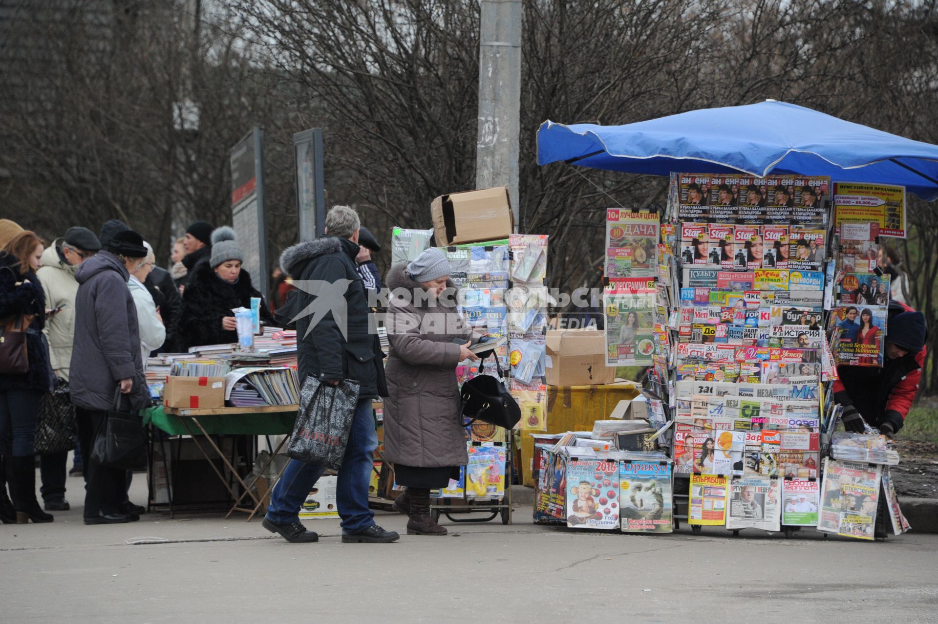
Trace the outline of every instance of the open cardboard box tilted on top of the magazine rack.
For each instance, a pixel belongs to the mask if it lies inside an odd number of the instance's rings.
[[[430,211],[437,247],[507,238],[515,225],[506,187],[440,195]]]

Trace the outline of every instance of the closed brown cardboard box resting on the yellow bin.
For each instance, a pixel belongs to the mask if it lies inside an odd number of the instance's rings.
[[[597,386],[615,381],[606,366],[606,332],[598,329],[549,329],[548,386]]]

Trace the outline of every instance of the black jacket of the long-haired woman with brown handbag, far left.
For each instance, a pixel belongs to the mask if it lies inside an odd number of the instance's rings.
[[[28,281],[29,283],[25,283]],[[20,282],[17,286],[16,283]],[[26,332],[26,360],[29,371],[23,374],[0,374],[0,392],[7,390],[52,389],[52,365],[49,349],[42,336],[46,325],[46,296],[32,269],[21,275],[16,256],[0,251],[0,319],[20,314],[35,314]]]

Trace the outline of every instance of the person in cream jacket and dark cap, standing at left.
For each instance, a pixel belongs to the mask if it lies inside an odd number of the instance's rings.
[[[101,244],[94,232],[83,227],[70,227],[65,236],[56,238],[42,252],[42,266],[36,272],[46,296],[46,307],[52,310],[42,333],[49,341],[49,360],[55,373],[56,386],[66,392],[71,344],[75,336],[75,296],[78,294],[75,271],[100,249]],[[73,422],[67,424],[69,434],[74,426]],[[80,453],[75,455],[81,457]],[[77,460],[77,463],[80,465],[81,460]],[[39,492],[46,510],[69,509],[68,500],[65,499],[67,464],[68,450],[40,455],[39,476],[42,487]]]

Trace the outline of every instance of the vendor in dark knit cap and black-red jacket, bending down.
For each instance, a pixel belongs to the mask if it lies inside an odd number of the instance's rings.
[[[843,405],[843,426],[863,433],[864,422],[882,434],[899,432],[918,392],[925,363],[925,315],[898,302],[889,304],[883,368],[839,366],[834,401]]]

